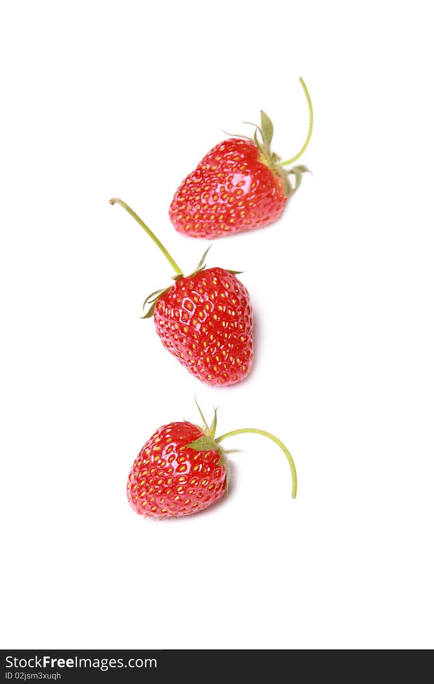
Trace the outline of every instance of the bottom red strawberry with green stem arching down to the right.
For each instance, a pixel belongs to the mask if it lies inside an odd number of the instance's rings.
[[[221,440],[243,432],[262,434],[284,451],[293,477],[292,496],[295,499],[295,464],[277,437],[264,430],[243,428],[216,439],[216,411],[211,428],[201,410],[200,415],[204,428],[187,421],[169,423],[156,430],[141,449],[126,486],[128,502],[136,513],[152,518],[178,518],[204,510],[218,501],[228,490],[229,480],[227,454],[230,451],[221,447]]]

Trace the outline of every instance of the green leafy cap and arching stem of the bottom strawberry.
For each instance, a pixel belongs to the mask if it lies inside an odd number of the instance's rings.
[[[226,434],[221,435],[220,437],[215,437],[215,430],[217,428],[217,409],[214,409],[214,417],[213,417],[213,422],[211,423],[211,428],[208,426],[208,423],[206,423],[206,420],[204,418],[204,414],[202,413],[202,410],[198,404],[198,402],[195,399],[196,406],[198,407],[198,410],[200,412],[200,417],[202,418],[202,421],[204,422],[204,427],[199,428],[200,430],[202,429],[202,432],[204,432],[203,437],[199,437],[198,439],[195,439],[193,442],[190,444],[187,444],[187,447],[190,449],[195,449],[195,451],[216,451],[219,456],[220,460],[218,465],[219,466],[225,466],[226,467],[226,491],[228,491],[228,484],[229,484],[229,464],[228,464],[228,458],[227,454],[228,453],[234,453],[235,451],[239,451],[239,449],[223,449],[221,447],[221,441],[223,439],[226,439],[227,437],[233,437],[237,434],[243,434],[243,433],[253,433],[253,434],[261,434],[264,437],[267,437],[270,439],[272,442],[277,444],[280,449],[284,452],[286,456],[286,460],[288,460],[289,466],[290,466],[290,471],[291,471],[291,477],[293,480],[293,485],[292,485],[292,490],[291,490],[291,496],[293,499],[297,496],[297,471],[295,470],[295,463],[293,460],[293,457],[290,455],[290,452],[284,445],[284,443],[277,438],[275,435],[271,434],[271,432],[266,432],[265,430],[258,430],[258,428],[241,428],[240,430],[232,430],[232,432],[226,432]]]

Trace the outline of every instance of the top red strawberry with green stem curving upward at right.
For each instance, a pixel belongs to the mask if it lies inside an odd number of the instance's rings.
[[[286,169],[306,150],[312,134],[312,103],[303,79],[310,124],[306,142],[295,157],[280,161],[271,151],[273,124],[261,111],[253,138],[231,137],[216,145],[178,187],[169,218],[179,233],[215,239],[252,231],[276,221],[298,189],[306,166]],[[258,140],[258,132],[262,142]],[[290,181],[294,176],[294,185]]]

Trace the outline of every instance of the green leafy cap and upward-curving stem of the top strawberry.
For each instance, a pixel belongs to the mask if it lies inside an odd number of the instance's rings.
[[[265,111],[261,111],[260,113],[260,126],[258,126],[257,124],[252,124],[249,121],[244,122],[255,127],[253,138],[247,137],[247,135],[238,136],[245,138],[245,140],[253,142],[259,150],[260,161],[262,161],[262,163],[265,163],[266,166],[269,166],[273,173],[275,173],[277,176],[280,176],[282,181],[284,181],[285,197],[290,197],[291,195],[293,195],[300,187],[303,173],[310,172],[308,167],[303,166],[302,164],[298,164],[297,166],[293,166],[289,169],[285,168],[286,166],[288,166],[288,164],[291,164],[297,159],[299,159],[299,157],[301,157],[301,155],[303,154],[304,150],[306,150],[310,141],[310,137],[312,135],[312,128],[314,124],[314,114],[310,94],[301,77],[299,81],[301,83],[304,94],[306,95],[306,99],[308,101],[309,130],[308,135],[306,137],[306,141],[304,142],[303,147],[301,148],[301,150],[299,150],[297,155],[291,157],[291,159],[287,159],[286,161],[281,161],[281,157],[271,150],[271,141],[273,140],[274,127],[271,118],[269,118],[269,116],[265,114]],[[259,140],[258,134],[260,135],[261,140]]]

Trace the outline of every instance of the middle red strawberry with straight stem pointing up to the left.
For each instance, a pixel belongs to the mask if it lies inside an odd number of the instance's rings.
[[[154,317],[161,342],[198,380],[209,385],[231,385],[245,378],[253,363],[253,314],[250,297],[238,272],[205,269],[206,250],[198,267],[184,276],[150,228],[125,202],[130,213],[157,243],[176,271],[174,285],[153,292],[144,302]],[[209,248],[208,248],[209,249]]]

